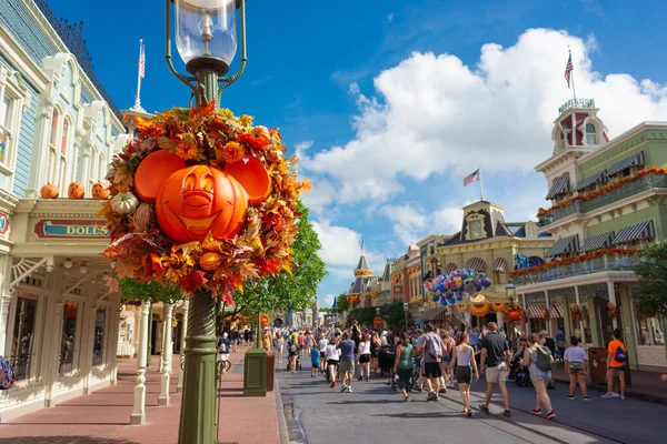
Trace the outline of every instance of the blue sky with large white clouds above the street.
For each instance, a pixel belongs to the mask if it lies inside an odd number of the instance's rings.
[[[120,109],[135,101],[139,39],[143,108],[188,104],[165,62],[162,1],[49,4],[84,21]],[[551,155],[558,107],[573,94],[568,48],[577,97],[595,99],[611,138],[667,120],[667,29],[656,20],[666,13],[660,1],[251,0],[247,70],[222,105],[279,127],[301,158],[329,272],[318,299],[330,306],[354,280],[361,239],[379,274],[410,242],[457,232],[480,192],[462,179],[480,167],[486,200],[508,221],[548,206],[534,167]]]

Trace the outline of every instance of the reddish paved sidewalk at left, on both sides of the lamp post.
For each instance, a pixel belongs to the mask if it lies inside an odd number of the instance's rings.
[[[275,392],[243,397],[243,354],[230,355],[231,371],[223,376],[220,403],[221,443],[279,444]],[[0,424],[1,444],[175,444],[178,440],[181,394],[176,393],[179,356],[173,356],[170,405],[158,406],[159,356],[146,373],[146,424],[130,425],[136,360],[119,362],[118,384],[79,396],[52,408]]]

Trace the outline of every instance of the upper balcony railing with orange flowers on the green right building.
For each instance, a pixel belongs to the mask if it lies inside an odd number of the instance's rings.
[[[587,213],[651,189],[667,189],[667,174],[645,175],[635,182],[626,183],[588,201],[575,201],[565,208],[554,210],[548,215],[540,218],[539,225],[545,226],[573,214]]]

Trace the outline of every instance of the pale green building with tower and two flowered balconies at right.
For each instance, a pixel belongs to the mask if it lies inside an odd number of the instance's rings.
[[[536,167],[551,202],[538,212],[538,231],[556,243],[550,262],[518,270],[512,281],[528,310],[565,307],[545,319],[552,333],[605,346],[618,327],[630,367],[665,371],[665,320],[637,310],[633,266],[643,245],[666,239],[667,123],[643,122],[609,140],[597,113],[580,99],[559,110],[554,153]]]

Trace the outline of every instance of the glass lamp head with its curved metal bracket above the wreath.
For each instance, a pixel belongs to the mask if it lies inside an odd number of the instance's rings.
[[[176,48],[192,75],[179,73],[171,62],[171,7],[173,2]],[[245,0],[165,0],[166,59],[178,80],[192,90],[197,105],[218,101],[231,83],[246,70],[246,1]],[[237,51],[236,10],[240,10],[241,63],[229,77]],[[218,87],[220,84],[220,87]]]

